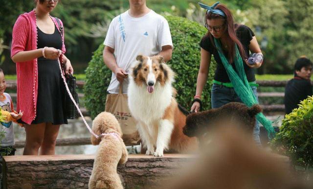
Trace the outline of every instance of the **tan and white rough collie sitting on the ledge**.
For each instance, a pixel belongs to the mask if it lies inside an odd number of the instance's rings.
[[[197,139],[182,133],[186,116],[173,97],[174,72],[163,57],[138,55],[128,87],[128,105],[146,154],[163,156],[163,150],[187,152],[197,149]],[[156,149],[156,150],[155,150]]]

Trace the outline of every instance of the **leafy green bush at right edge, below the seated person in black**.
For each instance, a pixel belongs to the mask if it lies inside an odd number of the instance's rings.
[[[271,146],[290,156],[295,165],[313,168],[313,97],[286,115]]]

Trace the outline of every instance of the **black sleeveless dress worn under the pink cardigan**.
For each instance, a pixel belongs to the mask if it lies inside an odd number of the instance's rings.
[[[62,49],[62,37],[54,26],[53,34],[46,34],[37,27],[37,48],[54,47]],[[67,124],[65,115],[66,88],[57,60],[38,59],[38,96],[36,118],[32,124],[50,122],[53,125]]]

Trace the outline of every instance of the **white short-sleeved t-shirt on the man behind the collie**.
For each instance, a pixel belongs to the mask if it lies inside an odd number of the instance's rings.
[[[134,18],[129,10],[115,17],[110,23],[104,45],[114,49],[117,66],[128,74],[137,55],[154,56],[162,46],[171,45],[172,37],[168,22],[153,10],[140,17]],[[129,77],[123,81],[123,93],[127,93]],[[112,73],[108,92],[118,93],[119,82]]]

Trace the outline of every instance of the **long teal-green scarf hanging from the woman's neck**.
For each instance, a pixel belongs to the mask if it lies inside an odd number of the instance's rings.
[[[235,45],[236,50],[236,56],[235,56],[235,68],[236,71],[233,69],[230,63],[228,63],[228,60],[224,56],[223,50],[221,48],[221,42],[220,40],[217,40],[214,38],[215,45],[218,49],[220,58],[222,60],[222,63],[226,69],[227,75],[230,79],[231,84],[234,87],[234,90],[236,94],[239,96],[241,101],[247,105],[248,107],[251,107],[254,104],[258,104],[255,96],[253,95],[252,89],[246,79],[246,73],[244,70],[244,64],[243,60],[240,56],[239,50],[237,45]],[[256,115],[257,120],[265,126],[266,130],[268,131],[268,136],[271,138],[274,136],[275,131],[272,126],[272,123],[264,116],[263,113],[258,113]]]

